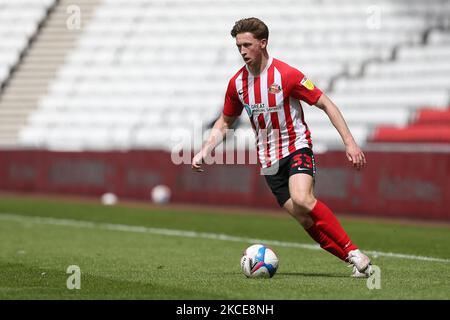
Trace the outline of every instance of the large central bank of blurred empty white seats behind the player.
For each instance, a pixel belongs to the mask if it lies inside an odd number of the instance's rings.
[[[417,108],[449,102],[448,31],[426,33],[445,24],[448,1],[104,0],[92,8],[28,111],[20,145],[170,148],[171,133],[220,113],[242,65],[229,31],[243,16],[268,24],[271,55],[329,93],[361,144],[381,124],[404,126]],[[315,145],[342,145],[322,111],[304,108]]]

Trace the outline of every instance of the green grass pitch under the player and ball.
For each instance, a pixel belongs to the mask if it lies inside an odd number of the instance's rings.
[[[2,196],[0,299],[450,298],[448,227],[340,220],[362,250],[410,257],[372,255],[380,289],[350,278],[351,269],[323,250],[276,244],[277,274],[245,278],[239,262],[247,238],[313,244],[281,211],[277,217]],[[79,290],[66,287],[70,265],[81,269]]]

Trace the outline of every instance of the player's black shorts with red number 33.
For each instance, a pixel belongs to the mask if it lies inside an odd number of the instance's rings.
[[[314,179],[316,164],[313,151],[308,148],[296,150],[294,153],[281,159],[278,163],[278,171],[275,174],[265,174],[267,184],[282,207],[291,197],[289,193],[289,177],[297,174],[309,174]],[[277,165],[275,164],[275,165]]]

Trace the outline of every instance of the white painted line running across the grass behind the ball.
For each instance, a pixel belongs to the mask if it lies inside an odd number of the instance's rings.
[[[230,236],[230,235],[220,234],[220,233],[207,233],[207,232],[164,229],[164,228],[150,228],[150,227],[132,226],[132,225],[126,225],[126,224],[113,224],[113,223],[48,218],[48,217],[31,217],[31,216],[24,216],[24,215],[11,214],[11,213],[0,213],[0,220],[14,221],[14,222],[20,222],[20,223],[34,223],[34,224],[45,224],[45,225],[54,225],[54,226],[66,226],[66,227],[77,227],[77,228],[88,228],[88,229],[103,229],[103,230],[111,230],[111,231],[147,233],[147,234],[157,234],[157,235],[164,235],[164,236],[176,236],[176,237],[186,237],[186,238],[202,238],[202,239],[212,239],[212,240],[222,240],[222,241],[232,241],[232,242],[245,242],[245,243],[264,243],[266,245],[287,247],[287,248],[321,250],[318,245],[298,243],[298,242],[284,242],[284,241],[277,241],[277,240],[252,239],[252,238]],[[399,259],[409,259],[409,260],[450,263],[450,259],[442,259],[442,258],[434,258],[434,257],[426,257],[426,256],[416,256],[416,255],[409,255],[409,254],[402,254],[402,253],[381,252],[381,251],[366,251],[366,253],[368,253],[369,255],[373,255],[375,257],[378,256],[378,257],[389,257],[389,258],[399,258]]]

